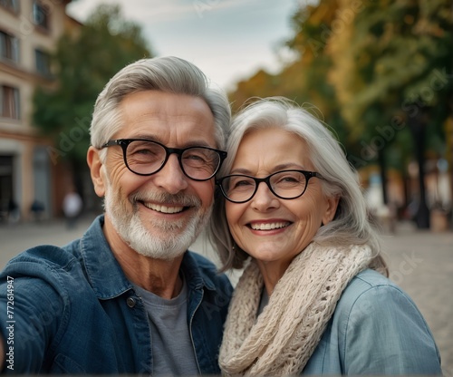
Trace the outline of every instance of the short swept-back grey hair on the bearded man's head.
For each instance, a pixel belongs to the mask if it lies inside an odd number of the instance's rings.
[[[212,86],[197,66],[183,59],[164,56],[130,63],[108,82],[94,105],[90,128],[92,146],[101,146],[122,127],[120,102],[130,93],[162,91],[188,94],[203,99],[212,111],[218,149],[225,148],[225,132],[231,110],[226,93]],[[106,150],[101,151],[105,159]]]

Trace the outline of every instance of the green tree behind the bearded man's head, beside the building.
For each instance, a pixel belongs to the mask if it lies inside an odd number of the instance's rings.
[[[56,88],[34,93],[34,124],[54,140],[53,163],[86,165],[96,98],[111,76],[150,57],[140,25],[123,18],[119,5],[100,5],[76,33],[64,34],[53,55]]]

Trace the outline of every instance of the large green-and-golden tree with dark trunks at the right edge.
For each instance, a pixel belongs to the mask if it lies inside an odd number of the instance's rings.
[[[342,1],[340,13],[351,13],[357,4]],[[418,224],[429,227],[423,165],[425,151],[439,149],[442,125],[451,116],[451,4],[380,0],[360,5],[343,32],[331,38],[330,80],[342,116],[360,140],[361,162],[377,159],[383,182],[387,157],[395,156],[391,150],[404,150],[408,141],[413,146],[408,151],[417,156],[420,171]]]

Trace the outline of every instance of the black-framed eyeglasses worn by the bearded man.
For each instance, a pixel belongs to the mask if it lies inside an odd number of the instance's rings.
[[[226,151],[208,147],[168,148],[157,141],[146,139],[110,140],[101,148],[120,145],[124,163],[132,173],[140,176],[150,176],[162,169],[169,155],[178,155],[179,166],[183,173],[193,180],[208,180],[213,178],[223,160]]]

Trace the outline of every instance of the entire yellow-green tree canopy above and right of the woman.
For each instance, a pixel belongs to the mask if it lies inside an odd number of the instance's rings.
[[[453,92],[448,0],[320,0],[301,5],[291,22],[294,36],[286,46],[296,53],[294,62],[278,74],[261,71],[239,82],[230,93],[235,109],[251,96],[313,103],[361,158],[358,168],[374,159],[359,141],[377,152],[371,141],[389,125],[395,132],[386,145],[400,140],[407,150],[407,130],[398,135],[397,128],[419,110],[435,109],[430,146],[439,147]]]

